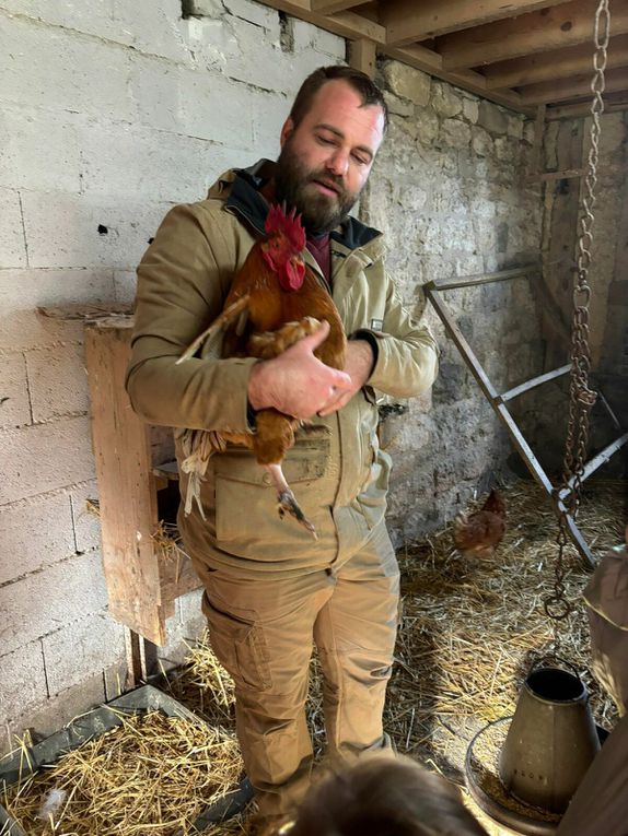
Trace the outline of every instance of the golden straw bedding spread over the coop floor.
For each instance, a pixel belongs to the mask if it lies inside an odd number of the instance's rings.
[[[597,556],[620,542],[626,519],[625,482],[590,482],[585,485],[578,525]],[[473,734],[491,720],[512,714],[519,690],[536,658],[558,652],[575,666],[585,682],[598,725],[610,728],[616,719],[612,700],[591,675],[586,615],[580,594],[590,577],[575,549],[567,546],[569,568],[567,594],[574,604],[571,615],[550,621],[543,602],[551,594],[557,555],[557,521],[545,494],[532,482],[519,482],[504,491],[508,529],[504,540],[488,560],[462,557],[453,547],[451,526],[433,532],[398,554],[402,567],[402,615],[396,648],[396,664],[388,688],[385,728],[399,752],[407,753],[462,786],[464,755]],[[102,794],[105,819],[97,826],[80,829],[85,805],[78,805],[77,823],[65,823],[58,833],[98,833],[106,836],[131,834],[187,833],[186,826],[200,809],[183,809],[193,794],[190,770],[200,770],[200,796],[208,801],[210,786],[224,790],[241,769],[233,737],[233,683],[214,659],[206,639],[190,648],[184,668],[166,683],[173,695],[217,728],[208,729],[196,741],[189,731],[174,731],[167,718],[149,719],[137,737],[139,761],[123,774],[109,764],[117,757],[113,735],[94,741],[72,753],[75,763],[66,777],[44,778],[36,800],[24,802],[24,815],[32,833],[33,811],[51,780],[65,780],[72,801],[81,796],[81,782],[95,780],[98,773],[108,778]],[[318,756],[324,750],[324,723],[317,660],[312,662],[309,719]],[[155,723],[154,727],[151,723]],[[181,721],[179,721],[181,722]],[[125,721],[125,727],[128,721]],[[167,742],[167,734],[175,740]],[[130,734],[129,731],[125,732]],[[202,735],[207,735],[203,738]],[[212,737],[217,735],[217,737]],[[211,744],[209,739],[211,738]],[[217,750],[209,749],[218,747]],[[222,778],[209,770],[209,761],[220,752]],[[211,752],[211,754],[210,754]],[[142,754],[143,753],[143,754]],[[172,755],[172,761],[168,760]],[[231,760],[231,764],[226,762]],[[107,764],[107,769],[102,765]],[[152,764],[149,784],[124,789],[125,774],[139,780],[143,766]],[[59,767],[60,768],[60,767]],[[148,770],[147,770],[148,772]],[[39,779],[37,779],[39,780]],[[118,784],[119,781],[119,784]],[[175,788],[176,804],[165,798],[165,787]],[[21,798],[30,790],[24,786]],[[31,793],[32,794],[32,793]],[[152,806],[151,806],[152,799]],[[12,802],[15,809],[15,803]],[[22,803],[22,802],[20,802]],[[151,824],[138,824],[139,811],[151,808]],[[68,803],[68,810],[70,804]],[[81,812],[81,810],[83,812]],[[90,813],[90,815],[98,813]],[[103,824],[116,815],[115,829]],[[210,827],[209,836],[242,834],[242,816]],[[40,825],[42,823],[39,823]],[[492,833],[499,831],[489,827]]]

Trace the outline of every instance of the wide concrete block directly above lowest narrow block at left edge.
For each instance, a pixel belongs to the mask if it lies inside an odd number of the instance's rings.
[[[0,647],[11,652],[106,607],[97,552],[75,555],[0,587]]]

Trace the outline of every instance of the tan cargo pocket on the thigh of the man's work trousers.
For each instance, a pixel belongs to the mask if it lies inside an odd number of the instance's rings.
[[[207,596],[202,611],[209,624],[211,648],[235,683],[267,691],[271,679],[261,627],[217,610]]]

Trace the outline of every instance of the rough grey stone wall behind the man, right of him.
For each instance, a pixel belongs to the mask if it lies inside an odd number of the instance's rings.
[[[395,458],[389,523],[397,544],[442,526],[504,472],[504,431],[422,285],[537,261],[542,204],[527,185],[534,126],[523,116],[388,61],[381,68],[392,123],[362,201],[386,233],[403,297],[441,345],[433,390],[389,417]],[[535,301],[526,279],[441,296],[498,391],[540,370]]]

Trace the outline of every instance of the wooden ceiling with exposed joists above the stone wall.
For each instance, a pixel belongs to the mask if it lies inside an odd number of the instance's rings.
[[[347,38],[351,64],[369,74],[385,55],[531,116],[547,104],[548,118],[570,104],[580,114],[591,94],[598,0],[261,2]],[[628,0],[609,7],[607,91],[628,99]]]

